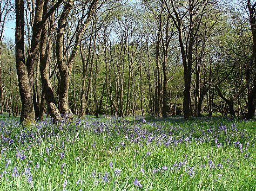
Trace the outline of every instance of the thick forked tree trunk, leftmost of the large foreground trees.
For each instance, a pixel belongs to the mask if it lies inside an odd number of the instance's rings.
[[[27,59],[25,60],[25,38],[24,38],[24,0],[16,0],[16,31],[15,31],[15,42],[16,42],[16,67],[17,75],[19,79],[20,87],[20,99],[22,102],[20,122],[34,122],[34,67],[37,61],[41,31],[44,23],[48,17],[54,12],[54,10],[61,4],[62,0],[59,0],[51,9],[43,14],[43,6],[48,4],[48,0],[40,1],[36,0],[34,24],[32,29],[31,46],[27,51]]]

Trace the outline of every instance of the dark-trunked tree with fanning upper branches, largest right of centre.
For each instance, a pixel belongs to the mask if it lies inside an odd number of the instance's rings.
[[[189,0],[185,3],[179,0],[170,0],[169,2],[164,0],[164,2],[178,31],[184,68],[183,113],[185,119],[188,119],[192,113],[190,85],[195,37],[200,29],[205,8],[209,5],[210,0]]]

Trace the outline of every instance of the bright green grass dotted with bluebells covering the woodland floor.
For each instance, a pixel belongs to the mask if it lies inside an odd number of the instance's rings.
[[[1,191],[256,190],[255,121],[5,119],[0,134]]]

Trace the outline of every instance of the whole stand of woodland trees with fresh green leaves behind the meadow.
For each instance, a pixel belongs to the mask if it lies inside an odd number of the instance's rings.
[[[0,5],[0,112],[22,122],[45,113],[255,116],[254,0]],[[14,5],[15,44],[4,39]]]

